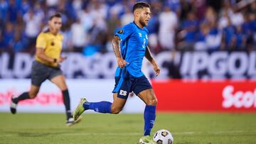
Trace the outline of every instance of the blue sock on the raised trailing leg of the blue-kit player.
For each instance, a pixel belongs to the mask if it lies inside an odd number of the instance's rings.
[[[100,102],[85,102],[83,107],[85,110],[92,109],[98,113],[111,113],[112,103],[109,101],[100,101]]]

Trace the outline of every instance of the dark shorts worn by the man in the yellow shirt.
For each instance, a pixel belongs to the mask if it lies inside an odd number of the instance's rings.
[[[59,67],[49,67],[34,60],[31,71],[31,82],[33,85],[40,87],[46,79],[53,79],[53,77],[60,74],[63,74],[63,72]]]

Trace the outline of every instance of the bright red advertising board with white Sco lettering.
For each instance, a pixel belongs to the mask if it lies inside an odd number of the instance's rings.
[[[256,82],[153,81],[158,111],[256,112]]]

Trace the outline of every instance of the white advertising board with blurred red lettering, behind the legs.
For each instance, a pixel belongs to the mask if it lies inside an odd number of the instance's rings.
[[[10,111],[11,95],[19,95],[30,89],[30,79],[0,79],[0,112]],[[85,97],[88,101],[113,101],[112,90],[114,79],[68,79],[71,110],[75,109],[80,99]],[[145,104],[137,96],[129,97],[122,113],[143,113]],[[64,113],[63,96],[61,91],[49,81],[42,84],[40,92],[35,99],[18,103],[18,113]],[[86,111],[92,112],[92,111]]]

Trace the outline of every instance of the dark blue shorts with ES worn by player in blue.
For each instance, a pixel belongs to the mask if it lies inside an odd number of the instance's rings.
[[[115,77],[114,90],[117,97],[127,99],[130,92],[139,94],[146,89],[152,89],[149,80],[143,75],[142,77]]]

